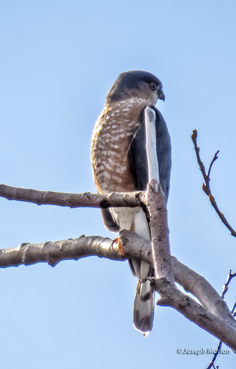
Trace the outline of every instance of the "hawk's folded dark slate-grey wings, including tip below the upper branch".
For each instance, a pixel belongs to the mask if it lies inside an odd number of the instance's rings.
[[[171,170],[171,143],[166,122],[160,111],[151,106],[156,114],[156,153],[159,166],[159,178],[162,190],[166,195],[166,200],[170,190],[170,170]],[[144,110],[140,114],[140,127],[134,137],[131,138],[129,147],[129,158],[133,168],[137,190],[146,191],[148,183],[147,153],[146,153],[146,132]],[[111,216],[109,208],[101,209],[105,227],[109,231],[118,232],[119,227]]]

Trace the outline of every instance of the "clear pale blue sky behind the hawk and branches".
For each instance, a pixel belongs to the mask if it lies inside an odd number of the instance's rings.
[[[168,202],[171,253],[221,293],[236,271],[236,239],[201,189],[191,141],[236,227],[235,1],[1,1],[0,182],[96,192],[90,140],[119,73],[142,69],[163,83],[157,103],[172,143]],[[114,238],[100,210],[0,199],[0,247]],[[97,257],[0,269],[1,368],[206,368],[218,340],[168,307],[155,308],[147,339],[132,324],[136,279],[128,262]],[[226,301],[233,306],[236,281]],[[236,357],[221,355],[220,369]]]

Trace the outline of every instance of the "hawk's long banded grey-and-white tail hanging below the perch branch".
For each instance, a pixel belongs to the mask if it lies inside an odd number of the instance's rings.
[[[153,268],[145,261],[130,260],[129,265],[136,277],[138,285],[133,303],[133,325],[142,332],[144,337],[149,335],[153,326],[155,291],[150,287],[147,277],[153,277]]]

